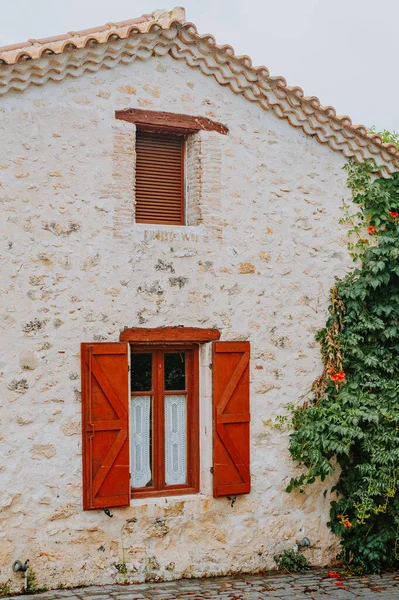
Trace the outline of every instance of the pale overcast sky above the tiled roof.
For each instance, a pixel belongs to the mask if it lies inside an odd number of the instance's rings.
[[[0,0],[0,46],[171,9],[165,0]],[[187,20],[355,124],[399,131],[399,0],[185,0]]]

